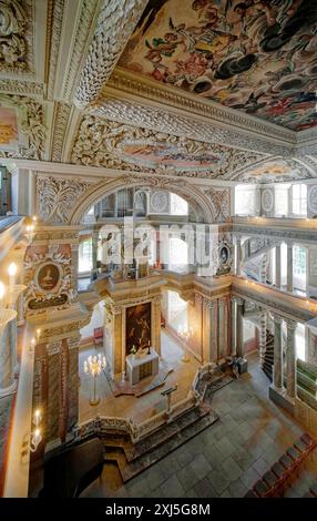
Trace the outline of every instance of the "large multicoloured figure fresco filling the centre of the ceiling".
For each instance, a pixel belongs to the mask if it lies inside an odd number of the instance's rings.
[[[150,0],[119,64],[309,129],[317,125],[317,0]]]

